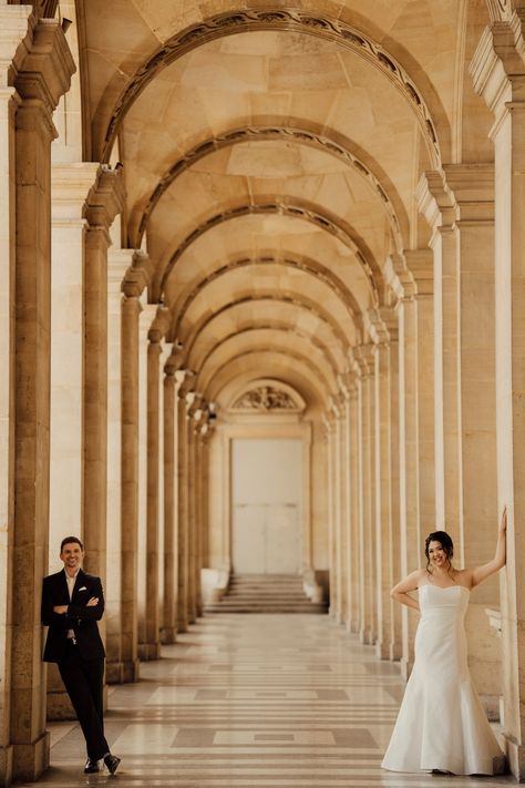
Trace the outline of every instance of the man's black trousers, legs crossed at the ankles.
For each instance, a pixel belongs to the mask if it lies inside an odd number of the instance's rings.
[[[59,671],[84,734],[87,757],[100,760],[110,751],[102,707],[104,659],[83,659],[71,642]]]

